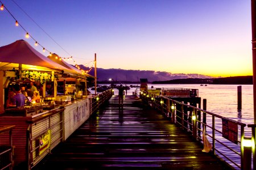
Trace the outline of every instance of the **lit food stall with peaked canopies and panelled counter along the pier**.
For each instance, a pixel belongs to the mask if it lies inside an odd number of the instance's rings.
[[[15,125],[15,165],[26,162],[28,168],[33,167],[89,118],[90,105],[96,99],[79,95],[80,91],[86,91],[86,87],[79,86],[88,77],[92,76],[68,63],[57,63],[43,56],[24,40],[0,47],[0,95],[3,96],[0,97],[0,126]],[[9,84],[31,81],[42,85],[40,103],[6,109],[5,89]],[[58,94],[61,81],[75,82],[75,91],[68,94],[62,84],[63,94]],[[49,92],[51,89],[53,92]],[[0,146],[6,145],[7,138],[0,139]]]

